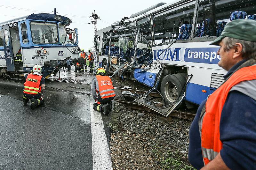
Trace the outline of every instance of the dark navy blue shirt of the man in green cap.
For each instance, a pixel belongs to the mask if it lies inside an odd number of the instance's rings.
[[[241,64],[234,65],[224,78],[228,78]],[[206,103],[197,109],[189,131],[188,159],[192,166],[204,166],[198,120]],[[256,169],[256,101],[244,93],[231,91],[223,106],[220,118],[220,156],[230,169]]]

